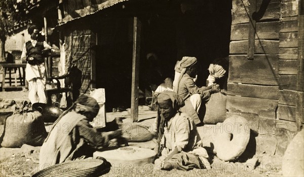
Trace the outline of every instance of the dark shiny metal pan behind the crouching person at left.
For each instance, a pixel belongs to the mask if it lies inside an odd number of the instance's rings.
[[[41,102],[33,103],[32,109],[42,114],[44,122],[55,122],[63,113],[63,110]]]

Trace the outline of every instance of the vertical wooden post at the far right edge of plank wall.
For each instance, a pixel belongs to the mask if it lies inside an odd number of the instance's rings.
[[[295,120],[298,130],[304,123],[304,0],[299,1],[298,9],[298,70]]]

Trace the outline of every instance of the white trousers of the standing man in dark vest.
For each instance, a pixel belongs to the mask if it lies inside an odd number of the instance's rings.
[[[35,102],[47,103],[45,90],[45,78],[34,78],[28,81],[28,98],[32,104]]]

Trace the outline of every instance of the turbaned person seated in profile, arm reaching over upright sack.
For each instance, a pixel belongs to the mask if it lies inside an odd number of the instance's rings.
[[[178,70],[180,74],[173,82],[174,91],[185,101],[185,106],[181,108],[181,111],[192,117],[195,124],[199,124],[202,122],[199,117],[202,102],[207,102],[212,93],[219,92],[219,86],[198,87],[196,85],[194,78],[197,76],[198,64],[195,57],[183,57],[175,70]],[[203,118],[203,115],[201,117]]]

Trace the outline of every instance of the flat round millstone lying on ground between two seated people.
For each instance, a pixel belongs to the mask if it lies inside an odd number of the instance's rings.
[[[153,163],[155,156],[155,151],[138,147],[122,147],[102,152],[96,151],[93,154],[93,158],[103,157],[110,162],[112,166],[124,166],[126,164],[145,165]]]

